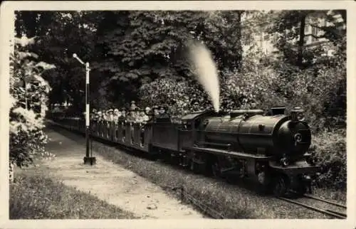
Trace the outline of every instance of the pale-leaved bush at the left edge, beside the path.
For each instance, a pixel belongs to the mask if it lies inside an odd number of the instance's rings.
[[[42,131],[47,94],[51,87],[41,78],[41,73],[54,66],[36,61],[38,56],[26,51],[26,46],[33,42],[33,39],[26,37],[15,38],[14,54],[11,55],[9,110],[11,179],[14,165],[28,166],[33,162],[35,155],[53,156],[44,148],[48,137]]]

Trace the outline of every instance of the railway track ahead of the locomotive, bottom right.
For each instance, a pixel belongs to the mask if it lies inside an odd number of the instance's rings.
[[[300,198],[293,200],[291,198],[278,197],[283,201],[293,203],[297,206],[302,206],[304,208],[308,208],[312,211],[317,211],[319,213],[323,213],[324,215],[329,215],[333,218],[346,219],[346,209],[345,205],[340,203],[336,203],[335,201],[328,201],[323,198],[319,198],[313,195],[303,195]]]

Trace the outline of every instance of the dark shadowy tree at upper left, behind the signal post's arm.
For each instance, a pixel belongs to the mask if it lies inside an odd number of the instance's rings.
[[[78,89],[85,88],[85,70],[72,55],[77,53],[83,60],[92,59],[95,26],[100,15],[98,11],[16,11],[17,36],[36,36],[37,42],[31,50],[57,66],[43,75],[53,87],[51,101],[65,102],[67,98],[78,109],[83,107],[84,90]],[[95,91],[97,88],[93,88]]]

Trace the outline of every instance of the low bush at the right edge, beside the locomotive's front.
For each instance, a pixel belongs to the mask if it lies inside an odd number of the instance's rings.
[[[320,187],[346,189],[346,131],[320,132],[313,137],[310,152],[315,154],[322,174],[317,184]]]

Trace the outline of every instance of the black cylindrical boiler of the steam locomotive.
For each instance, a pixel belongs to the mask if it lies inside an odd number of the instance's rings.
[[[231,151],[293,161],[305,154],[311,143],[302,112],[299,108],[293,110],[292,118],[283,114],[283,107],[272,109],[271,115],[263,115],[263,110],[239,110],[229,117],[206,118],[199,130],[204,131],[204,142],[215,143],[215,147],[229,144]]]

